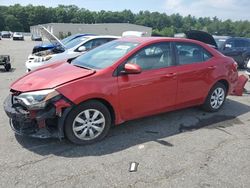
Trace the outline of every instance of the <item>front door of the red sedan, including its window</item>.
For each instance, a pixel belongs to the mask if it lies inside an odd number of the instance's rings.
[[[177,77],[168,42],[149,45],[125,63],[142,68],[140,74],[118,76],[119,102],[125,120],[166,111],[175,105]]]

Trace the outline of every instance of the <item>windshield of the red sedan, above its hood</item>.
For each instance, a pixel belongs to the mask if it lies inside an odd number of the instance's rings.
[[[136,42],[112,41],[99,46],[72,61],[73,65],[91,69],[103,69],[138,46]]]

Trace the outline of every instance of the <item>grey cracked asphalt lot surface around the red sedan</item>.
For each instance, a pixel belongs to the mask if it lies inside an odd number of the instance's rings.
[[[228,97],[218,113],[189,108],[130,121],[88,146],[15,136],[2,104],[36,43],[0,41],[13,66],[0,67],[0,187],[250,187],[249,94]]]

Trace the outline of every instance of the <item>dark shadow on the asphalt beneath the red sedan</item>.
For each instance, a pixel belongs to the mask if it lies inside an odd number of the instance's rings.
[[[71,144],[66,139],[59,141],[16,135],[16,140],[27,150],[39,155],[52,154],[69,158],[107,155],[152,141],[166,147],[174,147],[166,138],[186,131],[206,128],[230,134],[225,128],[244,124],[237,117],[249,111],[250,106],[228,99],[217,113],[188,108],[129,121],[112,128],[104,140],[85,146]]]

